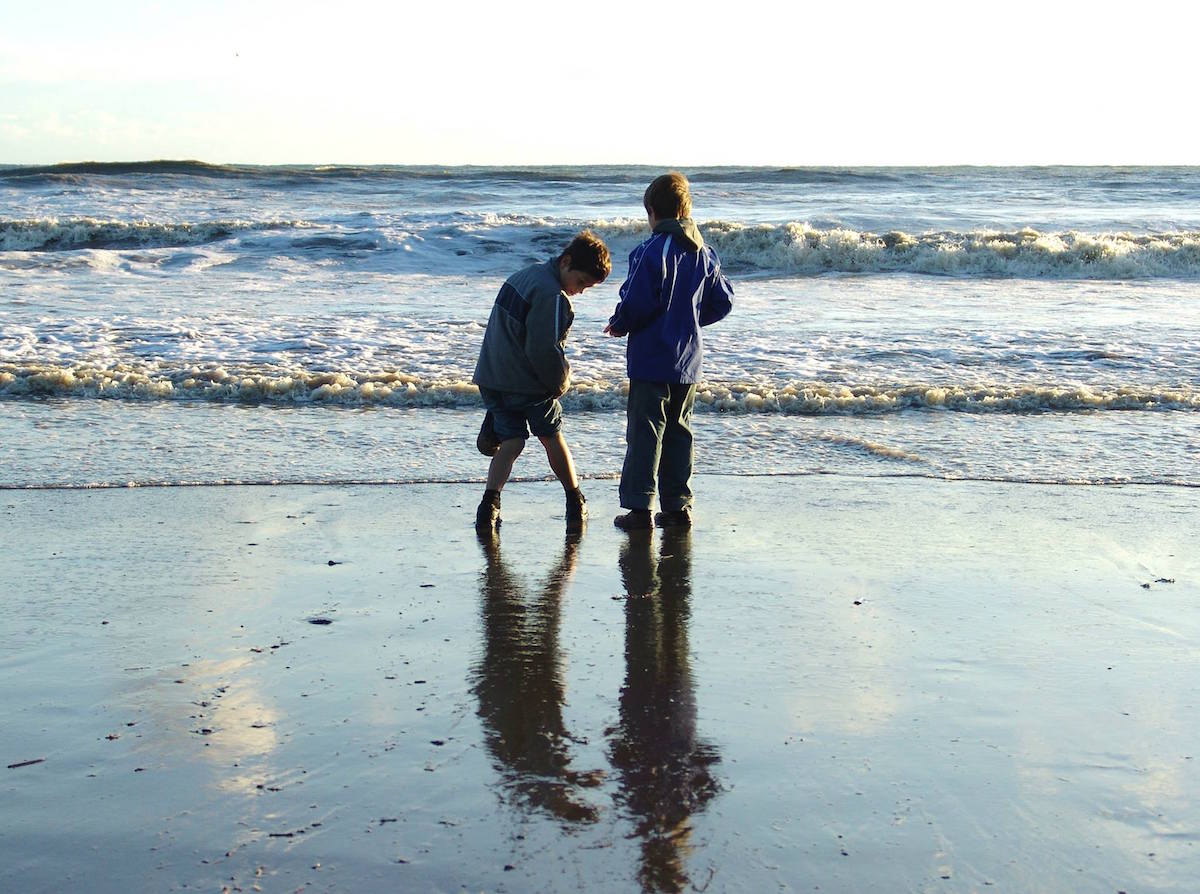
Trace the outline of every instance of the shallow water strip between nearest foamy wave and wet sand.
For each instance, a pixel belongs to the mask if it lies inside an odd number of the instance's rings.
[[[479,409],[0,401],[0,487],[270,482],[481,482]],[[696,469],[733,476],[848,474],[1044,484],[1200,485],[1190,413],[877,416],[701,413]],[[586,480],[619,475],[622,418],[572,412]],[[1086,448],[1086,449],[1085,449]],[[532,440],[514,474],[550,475]]]

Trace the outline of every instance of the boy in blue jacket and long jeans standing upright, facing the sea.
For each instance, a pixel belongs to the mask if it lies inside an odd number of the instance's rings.
[[[691,524],[691,410],[703,354],[701,326],[724,319],[733,287],[691,221],[688,178],[654,179],[642,198],[653,234],[629,256],[629,276],[605,332],[629,336],[629,406],[620,505],[613,523],[649,528],[655,479],[660,527]]]

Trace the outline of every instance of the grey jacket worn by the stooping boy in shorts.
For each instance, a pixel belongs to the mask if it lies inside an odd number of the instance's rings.
[[[559,397],[571,380],[563,346],[574,322],[557,258],[518,270],[492,305],[472,382],[496,391]]]

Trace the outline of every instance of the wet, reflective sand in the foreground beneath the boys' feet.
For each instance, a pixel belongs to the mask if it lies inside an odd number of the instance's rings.
[[[586,490],[0,494],[0,890],[1195,890],[1194,491]]]

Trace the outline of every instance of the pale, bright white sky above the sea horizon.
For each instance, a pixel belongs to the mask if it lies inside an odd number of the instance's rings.
[[[1200,164],[1196,4],[648,5],[0,0],[0,163]]]

